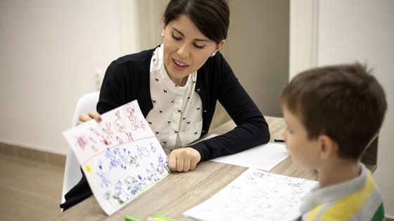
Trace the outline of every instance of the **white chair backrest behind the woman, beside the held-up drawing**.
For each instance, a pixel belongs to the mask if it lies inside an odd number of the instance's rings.
[[[75,107],[74,118],[72,119],[72,127],[77,126],[80,118],[80,114],[88,114],[91,110],[96,110],[96,105],[98,102],[99,91],[87,93],[83,95],[77,102]],[[65,159],[65,170],[63,178],[63,191],[61,203],[65,202],[64,195],[72,189],[82,178],[82,173],[80,170],[80,163],[77,160],[72,149],[68,148],[68,153]]]

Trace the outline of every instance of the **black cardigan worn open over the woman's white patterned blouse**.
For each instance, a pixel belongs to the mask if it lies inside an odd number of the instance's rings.
[[[153,108],[150,91],[150,65],[155,48],[125,55],[111,62],[101,86],[97,112],[106,113],[116,107],[137,100],[146,117]],[[264,116],[244,90],[231,67],[220,52],[208,58],[197,71],[196,93],[203,103],[203,131],[208,133],[216,102],[222,104],[236,123],[234,130],[193,147],[201,154],[201,161],[235,154],[269,141],[269,128]],[[82,180],[65,195],[64,210],[91,195],[87,180]]]

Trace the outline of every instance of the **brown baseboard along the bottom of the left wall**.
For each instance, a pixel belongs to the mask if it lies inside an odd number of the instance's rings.
[[[65,166],[64,155],[53,154],[37,149],[30,149],[27,147],[20,147],[16,145],[9,145],[3,142],[0,142],[0,154],[8,154],[11,156],[17,156],[24,159],[42,161],[44,163],[51,163],[57,166],[63,166],[63,167]]]

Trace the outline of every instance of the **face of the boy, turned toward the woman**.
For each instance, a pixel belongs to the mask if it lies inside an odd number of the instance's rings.
[[[283,133],[286,149],[294,164],[299,168],[317,168],[319,148],[317,140],[307,139],[307,130],[297,116],[282,105],[287,128]]]

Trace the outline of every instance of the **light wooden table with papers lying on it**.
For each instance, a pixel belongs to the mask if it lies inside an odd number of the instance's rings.
[[[286,128],[286,123],[283,118],[279,117],[266,116],[266,119],[271,133],[269,142],[274,142],[275,138],[281,138],[281,132]],[[222,134],[234,127],[235,123],[228,121],[210,131],[209,134]],[[376,137],[367,148],[362,160],[372,171],[376,169],[377,149],[378,138]],[[154,214],[172,217],[175,220],[195,220],[184,217],[182,213],[209,199],[210,196],[226,187],[246,169],[243,166],[203,161],[193,171],[187,173],[173,172],[111,216],[106,215],[96,199],[91,196],[64,213],[53,217],[51,220],[119,221],[124,220],[125,215],[146,220],[147,217],[153,217]],[[281,161],[277,166],[274,166],[269,172],[317,180],[316,170],[297,169],[293,166],[289,157]]]

